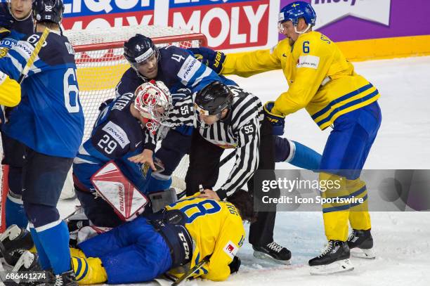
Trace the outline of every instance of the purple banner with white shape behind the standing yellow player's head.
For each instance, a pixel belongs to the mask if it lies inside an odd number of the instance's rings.
[[[430,1],[304,0],[317,13],[316,30],[333,41],[430,34]],[[280,8],[292,3],[281,0]],[[413,22],[412,29],[408,23]],[[284,37],[280,35],[279,39]]]

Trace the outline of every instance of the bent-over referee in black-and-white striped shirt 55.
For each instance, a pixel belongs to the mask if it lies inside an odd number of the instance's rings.
[[[245,183],[252,195],[254,171],[275,169],[272,124],[264,118],[261,100],[237,86],[212,82],[195,96],[194,111],[197,120],[185,176],[187,195],[197,193],[202,185],[200,197],[223,200]],[[227,181],[213,190],[226,148],[235,148],[235,164]],[[255,195],[260,196],[261,192]],[[258,212],[258,219],[249,227],[249,243],[257,258],[289,264],[291,252],[273,241],[275,216],[275,206],[271,212]]]

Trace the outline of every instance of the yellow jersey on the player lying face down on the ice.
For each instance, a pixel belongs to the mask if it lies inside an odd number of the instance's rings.
[[[187,216],[185,228],[193,238],[193,256],[187,269],[179,267],[169,273],[179,277],[211,255],[209,262],[193,277],[226,280],[230,275],[228,264],[245,240],[245,228],[235,206],[230,202],[193,196],[171,204],[167,209],[180,209]]]

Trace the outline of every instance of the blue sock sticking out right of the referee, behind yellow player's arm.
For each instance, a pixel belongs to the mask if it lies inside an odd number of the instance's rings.
[[[315,152],[313,149],[297,142],[291,142],[291,154],[292,157],[289,159],[289,164],[296,167],[308,169],[308,170],[318,170],[320,169],[321,155]]]

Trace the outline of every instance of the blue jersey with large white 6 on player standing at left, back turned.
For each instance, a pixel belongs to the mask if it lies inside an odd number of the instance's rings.
[[[41,33],[25,36],[4,58],[0,70],[18,80]],[[21,84],[21,103],[3,131],[45,155],[73,158],[84,135],[74,51],[67,37],[51,32]]]

